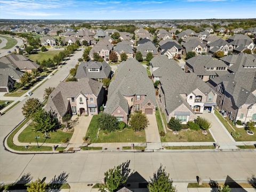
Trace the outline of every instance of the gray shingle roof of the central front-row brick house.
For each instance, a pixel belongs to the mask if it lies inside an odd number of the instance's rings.
[[[109,85],[105,112],[112,114],[118,106],[129,114],[129,105],[123,95],[146,95],[142,106],[149,100],[156,106],[153,82],[146,69],[135,59],[127,59],[119,64],[114,81]]]

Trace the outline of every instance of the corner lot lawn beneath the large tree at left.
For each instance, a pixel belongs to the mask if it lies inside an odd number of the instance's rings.
[[[50,138],[45,139],[44,138],[44,133],[41,132],[37,132],[35,133],[32,129],[33,129],[33,124],[34,123],[30,123],[30,125],[28,125],[26,127],[25,130],[23,130],[19,136],[18,136],[18,140],[20,142],[36,142],[35,139],[35,135],[39,136],[40,138],[38,138],[38,142],[46,142],[46,143],[61,143],[62,140],[65,139],[69,139],[72,137],[73,133],[67,133],[67,132],[63,132],[61,130],[57,130],[57,131],[53,131],[50,132]]]

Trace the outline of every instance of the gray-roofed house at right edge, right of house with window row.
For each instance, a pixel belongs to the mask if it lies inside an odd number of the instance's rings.
[[[237,71],[256,71],[256,55],[239,53],[233,55],[227,55],[220,58],[228,65],[228,69],[232,72]]]

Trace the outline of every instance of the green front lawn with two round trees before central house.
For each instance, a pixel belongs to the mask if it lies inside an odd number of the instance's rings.
[[[145,131],[135,132],[132,129],[124,129],[123,131],[116,131],[112,133],[103,133],[99,131],[97,138],[98,127],[97,119],[98,115],[92,117],[91,123],[88,127],[86,137],[89,137],[91,143],[101,142],[146,142]]]

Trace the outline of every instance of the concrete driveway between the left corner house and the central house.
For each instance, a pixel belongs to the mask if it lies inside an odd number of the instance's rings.
[[[92,119],[92,115],[90,116],[81,116],[79,117],[78,124],[74,127],[74,133],[69,141],[69,144],[75,144],[77,146],[83,145],[83,137],[85,137],[85,134],[87,132],[87,129],[90,125]]]

